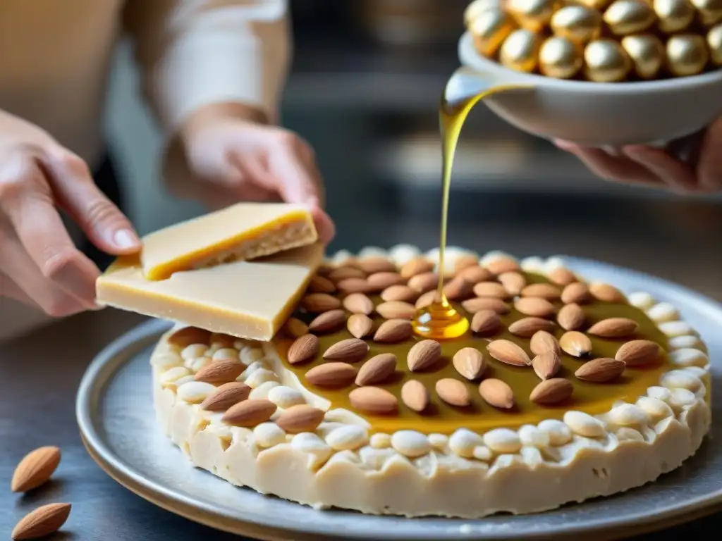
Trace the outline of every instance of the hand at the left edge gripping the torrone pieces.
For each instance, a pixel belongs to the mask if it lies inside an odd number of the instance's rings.
[[[82,159],[38,126],[0,111],[0,296],[63,317],[97,308],[100,271],[75,247],[58,209],[100,250],[140,249],[133,226]]]

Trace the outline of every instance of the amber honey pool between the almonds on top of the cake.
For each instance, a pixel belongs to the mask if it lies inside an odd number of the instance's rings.
[[[547,281],[541,276],[530,273],[526,273],[526,278],[528,283]],[[374,304],[382,302],[379,297],[372,297],[372,299]],[[452,304],[461,313],[471,318],[471,314],[466,312],[461,307],[461,304]],[[562,303],[557,302],[557,308],[561,306]],[[637,333],[625,338],[608,339],[589,335],[593,346],[589,359],[614,357],[614,354],[617,352],[619,346],[622,346],[622,343],[633,339],[653,340],[665,351],[667,349],[668,343],[666,335],[658,330],[656,325],[638,308],[632,307],[628,304],[610,304],[594,301],[588,304],[583,304],[583,309],[586,314],[585,329],[593,325],[595,322],[604,320],[607,317],[628,317],[639,323]],[[305,314],[297,314],[297,317],[300,317],[307,322],[311,319],[310,315]],[[486,351],[486,345],[491,340],[504,338],[518,343],[524,351],[529,353],[531,356],[529,338],[519,338],[506,330],[512,322],[519,320],[522,317],[526,316],[512,308],[509,314],[501,316],[502,330],[495,335],[482,338],[469,331],[465,335],[461,336],[461,338],[440,341],[443,356],[442,361],[437,366],[420,372],[409,371],[406,364],[406,354],[408,353],[409,348],[411,348],[414,343],[419,340],[423,340],[423,337],[414,335],[412,338],[409,338],[409,340],[396,344],[376,343],[370,338],[367,338],[366,342],[370,346],[370,351],[365,359],[355,363],[355,366],[362,366],[365,360],[370,359],[378,353],[396,354],[396,373],[393,374],[393,376],[386,382],[377,385],[378,387],[383,387],[392,392],[396,397],[399,397],[399,413],[396,415],[367,415],[355,410],[349,402],[349,392],[356,388],[355,384],[350,384],[349,386],[342,388],[328,389],[316,387],[305,381],[304,374],[306,371],[311,369],[313,366],[318,366],[318,364],[323,364],[323,362],[325,362],[322,358],[323,351],[326,351],[327,348],[339,340],[343,340],[344,338],[353,338],[346,328],[335,333],[319,335],[320,348],[318,356],[316,359],[313,359],[313,361],[304,364],[292,366],[286,361],[287,351],[292,343],[291,339],[284,338],[279,334],[277,335],[277,338],[274,339],[274,344],[278,349],[279,355],[284,360],[285,366],[295,372],[300,381],[303,382],[309,390],[329,400],[333,408],[347,408],[348,410],[355,411],[355,413],[358,413],[362,417],[366,418],[372,425],[372,431],[374,432],[393,432],[403,429],[412,429],[427,433],[439,432],[441,434],[451,434],[459,427],[477,431],[486,431],[490,428],[502,426],[513,428],[526,423],[539,423],[539,421],[543,419],[562,418],[562,415],[570,409],[581,410],[592,415],[604,413],[609,410],[612,404],[617,400],[634,402],[640,395],[645,393],[647,387],[658,384],[661,374],[670,369],[669,359],[667,359],[665,353],[662,356],[660,363],[647,368],[627,368],[622,376],[614,382],[603,384],[589,383],[583,382],[574,376],[575,370],[578,369],[584,361],[562,352],[562,369],[560,369],[556,377],[565,377],[572,382],[574,386],[573,395],[569,400],[557,405],[536,405],[529,400],[529,394],[541,380],[536,376],[534,370],[531,369],[531,366],[510,366],[492,359]],[[374,318],[375,325],[377,326],[382,321],[383,320],[378,316]],[[557,325],[555,333],[557,338],[560,338],[563,333],[564,331]],[[469,382],[461,377],[456,369],[453,368],[451,363],[454,353],[456,353],[459,349],[468,346],[478,348],[484,353],[484,357],[487,359],[487,369],[484,371],[482,378],[474,380],[473,382]],[[443,377],[451,377],[465,382],[471,395],[471,405],[466,408],[457,408],[444,403],[435,392],[435,383],[438,379]],[[479,382],[481,379],[490,377],[502,379],[510,385],[514,391],[514,397],[516,400],[515,408],[512,410],[498,410],[487,403],[484,403],[482,398],[479,396]],[[425,384],[425,387],[429,392],[430,406],[424,413],[416,413],[413,410],[406,408],[406,406],[401,402],[401,385],[409,379],[418,379],[420,382]]]

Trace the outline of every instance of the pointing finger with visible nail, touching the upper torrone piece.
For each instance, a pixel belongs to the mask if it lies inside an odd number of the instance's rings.
[[[92,180],[85,162],[75,154],[58,149],[42,162],[49,173],[53,195],[90,241],[113,255],[138,252],[141,242],[129,219]]]

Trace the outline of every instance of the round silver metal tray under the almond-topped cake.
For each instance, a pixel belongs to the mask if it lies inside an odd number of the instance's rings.
[[[715,372],[722,369],[722,306],[688,289],[634,271],[566,258],[590,279],[648,291],[673,303],[702,333]],[[186,518],[264,540],[516,540],[562,537],[613,539],[685,522],[722,508],[722,449],[699,452],[656,483],[627,493],[529,516],[477,521],[367,516],[314,511],[297,503],[236,488],[193,468],[155,424],[149,354],[170,324],[136,327],[97,356],[82,379],[77,418],[91,456],[122,485]],[[722,395],[716,374],[713,394]],[[713,408],[713,431],[722,412]],[[717,448],[715,448],[717,447]]]

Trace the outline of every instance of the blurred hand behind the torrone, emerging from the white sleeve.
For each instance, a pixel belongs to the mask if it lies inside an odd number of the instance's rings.
[[[181,131],[181,144],[193,175],[206,181],[194,190],[206,203],[302,203],[312,211],[321,242],[334,237],[313,149],[296,133],[267,125],[248,107],[226,103],[194,113]]]

